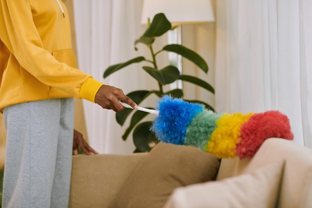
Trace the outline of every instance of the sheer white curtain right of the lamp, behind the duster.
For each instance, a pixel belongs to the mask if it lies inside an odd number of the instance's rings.
[[[218,112],[280,110],[312,147],[312,1],[217,0]]]

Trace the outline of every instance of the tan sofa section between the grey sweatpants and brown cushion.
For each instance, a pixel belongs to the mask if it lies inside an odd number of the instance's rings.
[[[69,208],[107,208],[147,154],[73,156]]]

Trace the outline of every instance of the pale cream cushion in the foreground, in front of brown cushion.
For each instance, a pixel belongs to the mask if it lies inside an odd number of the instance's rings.
[[[164,208],[275,208],[284,161],[251,174],[178,188]]]

